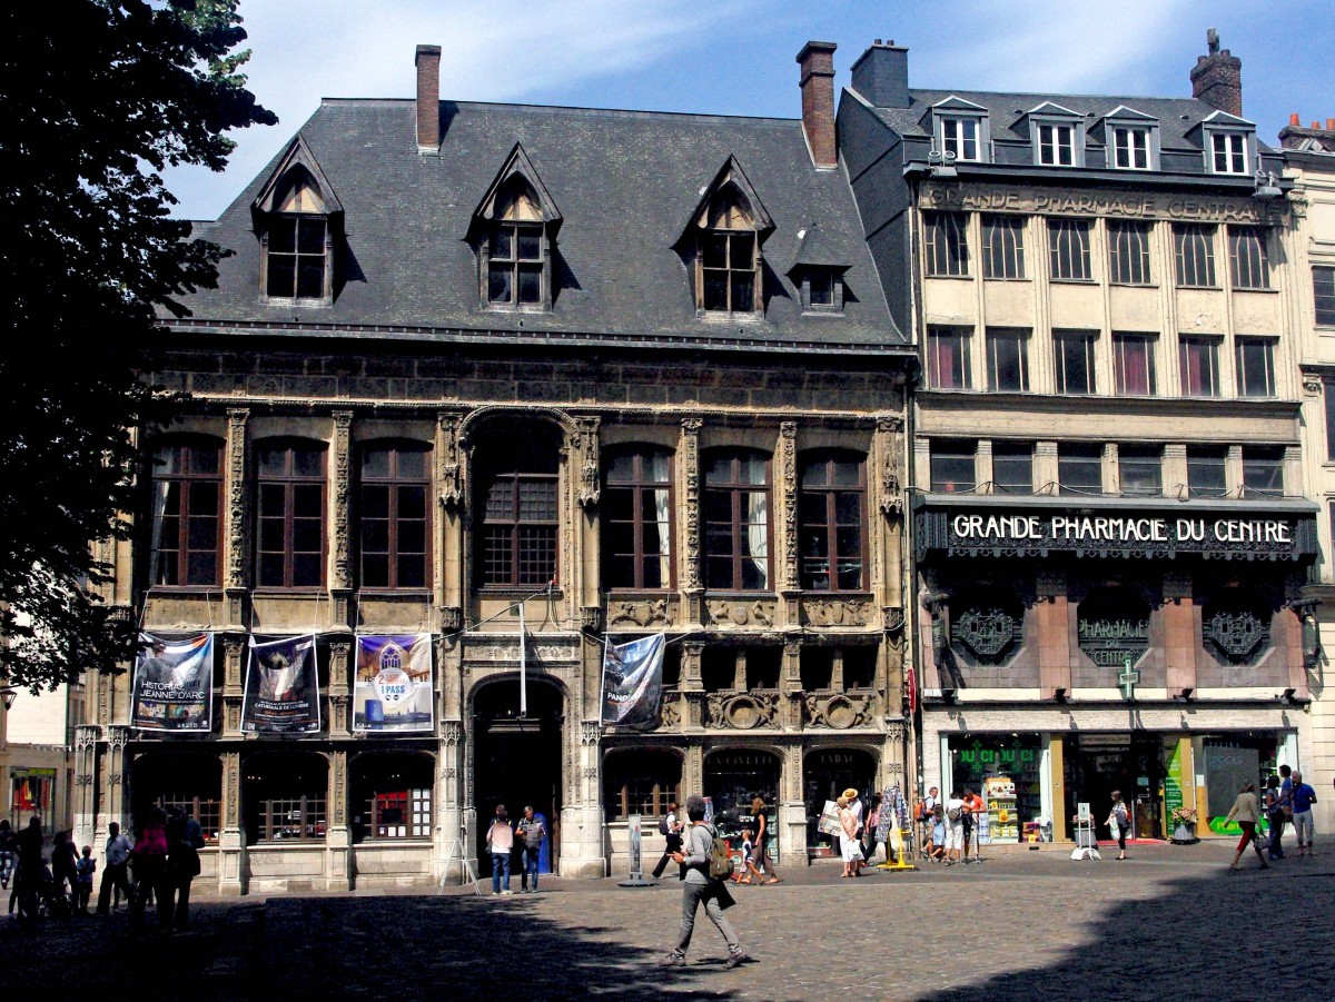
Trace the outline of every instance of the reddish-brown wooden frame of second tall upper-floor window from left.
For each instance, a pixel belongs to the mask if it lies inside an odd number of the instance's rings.
[[[264,450],[283,451],[283,474],[266,474],[259,454]],[[310,452],[319,456],[320,471],[318,475],[304,475],[292,472],[295,452]],[[310,588],[323,588],[327,580],[328,563],[328,450],[323,443],[278,439],[256,443],[255,463],[255,587],[282,588],[284,591],[300,591]],[[296,550],[299,523],[315,522],[311,515],[298,514],[298,491],[303,487],[319,487],[319,550]],[[276,488],[282,491],[283,502],[280,511],[275,512],[268,507],[268,496]],[[304,494],[304,492],[303,492]],[[282,548],[264,547],[264,530],[267,526],[282,526]],[[274,582],[264,575],[264,558],[278,554],[282,556],[282,580]],[[300,558],[315,556],[319,564],[318,580],[296,583],[296,562]]]

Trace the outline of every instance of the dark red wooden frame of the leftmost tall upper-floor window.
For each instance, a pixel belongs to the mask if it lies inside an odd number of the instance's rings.
[[[223,443],[203,436],[167,440],[159,444],[155,455],[162,455],[166,450],[176,454],[176,468],[166,472],[162,466],[155,463],[152,471],[154,522],[158,523],[160,518],[163,524],[155,524],[151,530],[156,546],[150,547],[152,559],[152,566],[148,568],[150,587],[216,588],[222,584],[223,572]],[[215,456],[214,472],[195,472],[192,467],[196,464],[191,462],[191,458],[202,456],[206,452],[212,452]],[[163,486],[167,486],[168,494],[164,498],[164,508],[159,514],[158,494]],[[199,495],[207,496],[208,494],[214,499],[212,516],[192,512],[191,508]],[[176,503],[171,506],[174,495]],[[171,506],[171,510],[166,506]],[[202,528],[207,531],[210,518],[214,523],[212,542],[207,546],[195,544],[194,540],[202,538],[196,536],[196,532]],[[176,539],[171,547],[163,544],[166,539],[160,535],[166,532],[168,522],[176,526]],[[164,575],[164,558],[170,554],[175,554],[172,559],[175,568],[171,575]],[[214,572],[212,575],[200,575],[199,580],[194,580],[192,562],[204,554],[212,554]],[[163,580],[164,576],[172,578],[172,580]],[[204,576],[208,579],[204,580]]]

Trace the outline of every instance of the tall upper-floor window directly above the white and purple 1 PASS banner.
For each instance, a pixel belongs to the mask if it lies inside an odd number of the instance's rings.
[[[430,454],[418,444],[367,444],[360,474],[360,586],[427,587]]]

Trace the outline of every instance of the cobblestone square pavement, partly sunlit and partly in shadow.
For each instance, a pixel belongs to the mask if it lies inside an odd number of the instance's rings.
[[[724,966],[700,915],[685,967],[659,967],[680,886],[543,878],[542,893],[469,887],[211,898],[191,930],[135,935],[108,918],[0,921],[5,987],[39,998],[211,999],[1247,999],[1335,994],[1335,842],[1228,870],[1231,849],[1131,846],[1125,862],[1060,849],[981,865],[840,878],[837,861],[734,887],[756,959]],[[1274,982],[1270,982],[1274,985]]]

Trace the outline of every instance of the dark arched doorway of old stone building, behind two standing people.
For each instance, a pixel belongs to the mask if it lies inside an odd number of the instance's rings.
[[[559,859],[562,695],[555,686],[530,679],[526,702],[527,714],[521,716],[519,679],[487,683],[473,700],[473,803],[482,877],[491,870],[486,835],[498,803],[506,806],[511,823],[523,817],[525,805],[542,815],[547,841],[541,873],[553,873]],[[518,874],[518,866],[517,849],[511,874]]]

